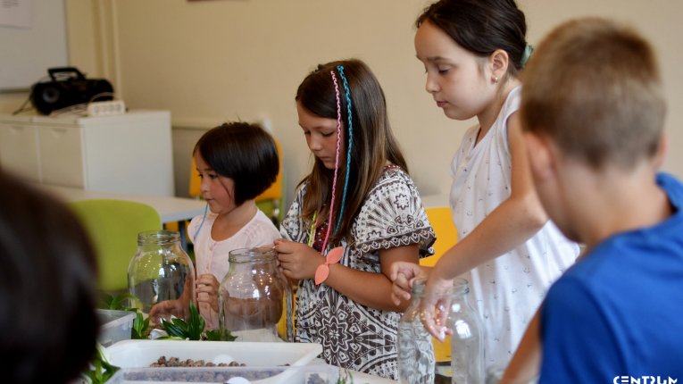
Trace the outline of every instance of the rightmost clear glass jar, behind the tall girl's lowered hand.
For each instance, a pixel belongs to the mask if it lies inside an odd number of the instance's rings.
[[[454,279],[453,287],[440,294],[444,303],[446,338],[450,338],[450,371],[440,370],[433,343],[439,343],[425,330],[421,322],[421,300],[426,280],[412,283],[412,302],[398,324],[398,373],[400,383],[480,384],[484,376],[484,339],[479,314],[468,302],[467,280]],[[448,380],[450,376],[450,380]]]

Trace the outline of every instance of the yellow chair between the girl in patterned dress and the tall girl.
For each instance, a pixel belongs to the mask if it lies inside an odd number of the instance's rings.
[[[427,218],[437,235],[437,241],[434,243],[434,255],[420,259],[420,265],[433,267],[438,259],[446,253],[448,249],[455,245],[458,241],[458,231],[455,229],[451,209],[447,206],[437,206],[426,208]],[[434,355],[437,362],[446,362],[451,360],[451,338],[447,337],[444,342],[432,338],[432,345],[434,346]]]

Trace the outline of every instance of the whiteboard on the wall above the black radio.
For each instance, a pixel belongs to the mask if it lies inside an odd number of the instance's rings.
[[[0,25],[0,92],[26,90],[45,78],[48,68],[69,64],[64,0],[29,0],[28,4],[29,28]]]

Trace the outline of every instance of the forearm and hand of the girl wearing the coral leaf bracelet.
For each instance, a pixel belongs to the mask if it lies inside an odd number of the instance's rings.
[[[310,246],[287,240],[277,240],[280,266],[290,279],[313,279],[315,270],[325,263],[325,258]],[[401,300],[398,305],[391,299],[392,282],[388,273],[396,262],[418,263],[418,245],[396,246],[379,250],[382,273],[358,271],[341,264],[330,264],[327,280],[322,284],[336,289],[357,303],[387,311],[404,311],[409,302]]]

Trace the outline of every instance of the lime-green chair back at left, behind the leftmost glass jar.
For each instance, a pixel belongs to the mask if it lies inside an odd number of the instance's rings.
[[[97,255],[98,288],[110,293],[128,291],[128,265],[137,252],[137,234],[161,230],[153,207],[127,200],[81,200],[68,205],[79,217]]]

